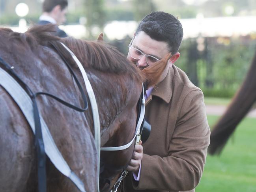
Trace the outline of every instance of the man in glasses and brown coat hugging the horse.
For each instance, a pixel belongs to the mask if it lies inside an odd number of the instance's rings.
[[[210,130],[201,89],[173,65],[182,38],[178,19],[159,11],[144,17],[129,45],[127,58],[140,69],[172,56],[159,83],[146,92],[151,133],[135,146],[121,191],[195,191],[202,177]]]

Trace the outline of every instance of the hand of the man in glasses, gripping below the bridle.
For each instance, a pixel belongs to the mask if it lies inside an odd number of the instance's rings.
[[[140,164],[141,164],[142,155],[143,155],[143,147],[141,144],[142,144],[142,141],[140,141],[139,144],[135,145],[133,157],[127,166],[128,171],[133,171],[137,175],[140,169]]]

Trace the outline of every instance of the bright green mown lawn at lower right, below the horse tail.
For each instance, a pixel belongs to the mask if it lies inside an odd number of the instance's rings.
[[[219,117],[207,116],[209,125]],[[207,156],[196,192],[256,192],[256,118],[245,118],[220,156]]]

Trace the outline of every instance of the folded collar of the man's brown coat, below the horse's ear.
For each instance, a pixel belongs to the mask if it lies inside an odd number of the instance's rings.
[[[159,84],[157,84],[154,89],[152,90],[151,95],[148,97],[146,104],[148,104],[149,101],[152,99],[152,95],[160,97],[163,99],[166,103],[169,103],[172,98],[172,79],[174,76],[174,69],[173,66],[170,67],[166,77],[163,81],[161,81]]]

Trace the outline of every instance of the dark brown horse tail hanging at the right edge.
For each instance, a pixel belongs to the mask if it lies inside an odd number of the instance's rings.
[[[249,112],[256,100],[256,53],[252,60],[247,76],[228,106],[225,114],[211,131],[211,144],[208,152],[211,155],[220,154],[230,135],[234,132],[238,123]]]

